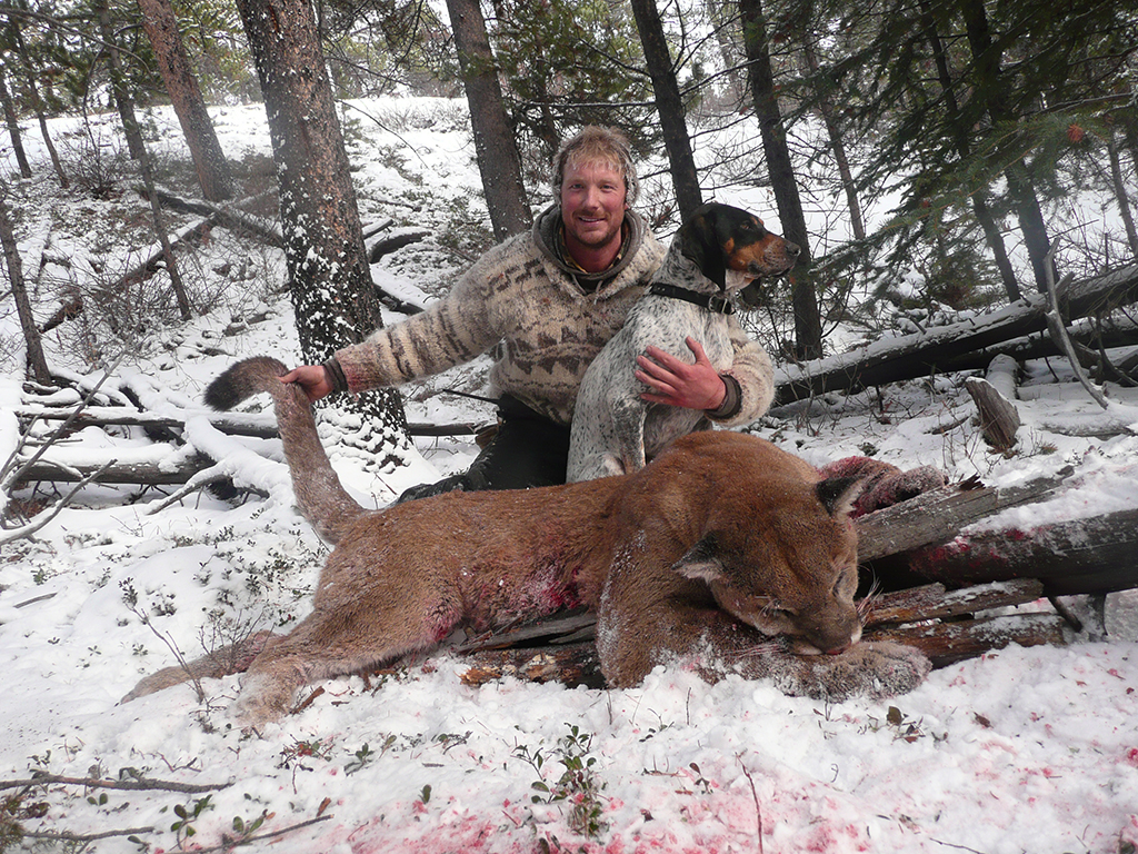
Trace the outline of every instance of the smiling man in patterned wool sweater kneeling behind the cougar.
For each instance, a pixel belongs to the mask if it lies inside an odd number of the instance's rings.
[[[665,249],[632,211],[640,183],[621,132],[591,126],[564,142],[553,189],[558,202],[533,230],[483,255],[444,299],[281,378],[316,401],[399,385],[497,346],[489,377],[500,399],[496,436],[468,471],[412,487],[401,501],[564,483],[580,379],[646,291]],[[638,360],[645,399],[727,425],[762,414],[774,395],[770,360],[737,326],[732,337],[735,362],[725,376],[701,351],[687,364],[650,347]]]

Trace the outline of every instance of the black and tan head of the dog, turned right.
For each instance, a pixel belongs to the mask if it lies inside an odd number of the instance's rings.
[[[794,266],[801,249],[772,235],[754,214],[731,205],[709,202],[676,232],[681,252],[720,289],[727,289],[727,271],[740,276],[737,289],[753,279],[781,276]]]

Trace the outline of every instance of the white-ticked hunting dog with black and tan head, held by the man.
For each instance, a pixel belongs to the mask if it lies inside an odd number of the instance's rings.
[[[717,371],[734,360],[732,295],[760,277],[780,276],[801,249],[737,207],[699,207],[675,237],[649,293],[588,367],[577,393],[569,443],[570,483],[644,468],[669,442],[691,433],[702,413],[641,397],[636,356],[649,345],[693,362],[696,339]]]

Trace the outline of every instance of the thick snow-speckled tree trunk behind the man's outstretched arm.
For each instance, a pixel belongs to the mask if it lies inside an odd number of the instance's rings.
[[[320,363],[382,326],[331,84],[306,0],[239,0],[277,164],[292,309],[304,360]],[[380,466],[406,449],[398,393],[351,396],[349,443]]]

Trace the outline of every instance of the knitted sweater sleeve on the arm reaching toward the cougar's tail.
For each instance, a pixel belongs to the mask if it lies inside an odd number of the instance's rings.
[[[485,353],[501,338],[493,322],[488,282],[495,253],[484,255],[446,297],[424,312],[377,329],[336,352],[348,391],[396,386],[439,373]]]

